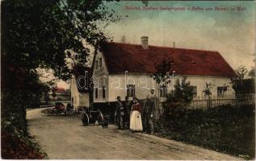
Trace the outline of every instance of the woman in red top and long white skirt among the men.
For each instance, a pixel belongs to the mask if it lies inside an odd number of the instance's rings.
[[[138,99],[134,100],[134,104],[132,105],[132,114],[130,118],[130,129],[132,131],[142,131],[142,121],[141,121],[141,111],[142,107],[139,103]]]

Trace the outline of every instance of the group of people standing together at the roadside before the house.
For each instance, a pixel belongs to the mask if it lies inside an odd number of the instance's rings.
[[[130,129],[132,131],[144,131],[153,134],[153,115],[155,111],[154,90],[150,90],[151,95],[147,95],[146,100],[141,105],[137,97],[125,97],[124,103],[121,97],[116,97],[115,124],[118,129]]]

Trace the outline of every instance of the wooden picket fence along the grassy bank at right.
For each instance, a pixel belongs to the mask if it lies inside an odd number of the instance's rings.
[[[245,93],[239,95],[223,95],[223,96],[204,96],[195,97],[189,108],[202,109],[211,108],[220,105],[241,106],[245,104],[254,104],[254,93]]]

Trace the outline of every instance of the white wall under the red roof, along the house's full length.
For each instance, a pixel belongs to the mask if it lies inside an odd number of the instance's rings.
[[[132,77],[132,78],[131,78]],[[103,85],[103,77],[99,78],[99,87]],[[204,93],[206,83],[212,83],[213,87],[211,89],[212,95],[217,95],[218,86],[228,86],[226,94],[232,94],[233,89],[230,84],[229,77],[220,77],[220,76],[187,76],[187,81],[191,82],[191,85],[196,86],[197,96],[202,96]],[[102,97],[102,89],[99,89],[98,98],[94,98],[94,102],[107,102],[107,101],[116,101],[116,97],[124,97],[127,95],[126,85],[135,85],[135,94],[139,99],[144,99],[147,94],[150,93],[150,89],[155,89],[156,96],[158,96],[159,91],[156,88],[156,83],[149,74],[135,74],[128,73],[128,76],[125,74],[111,74],[105,77],[105,83],[107,85],[106,89],[106,98]],[[169,84],[168,92],[173,89],[173,84]]]

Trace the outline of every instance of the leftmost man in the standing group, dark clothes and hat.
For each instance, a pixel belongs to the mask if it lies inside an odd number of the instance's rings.
[[[117,102],[115,105],[115,120],[118,123],[118,129],[124,130],[124,105],[121,102],[121,97],[116,97]]]

